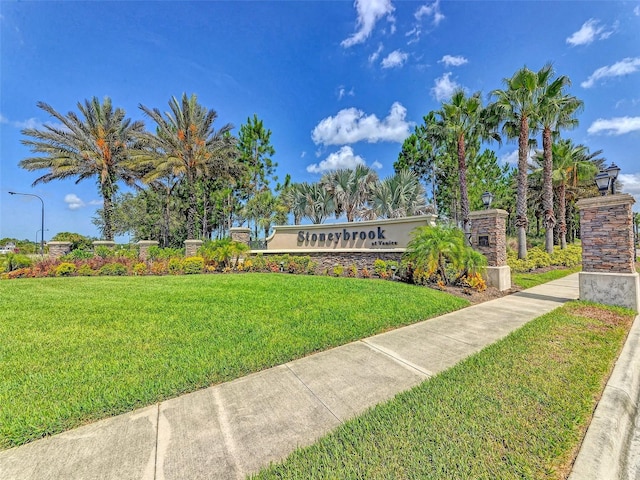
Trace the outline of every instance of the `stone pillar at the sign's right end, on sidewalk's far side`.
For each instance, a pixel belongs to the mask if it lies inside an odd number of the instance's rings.
[[[500,291],[511,288],[511,268],[507,265],[507,217],[505,210],[471,212],[471,247],[487,257],[487,285]]]

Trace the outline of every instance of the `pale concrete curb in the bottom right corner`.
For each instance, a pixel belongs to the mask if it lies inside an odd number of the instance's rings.
[[[568,480],[626,480],[640,401],[640,315],[594,411]],[[640,473],[640,472],[638,472]]]

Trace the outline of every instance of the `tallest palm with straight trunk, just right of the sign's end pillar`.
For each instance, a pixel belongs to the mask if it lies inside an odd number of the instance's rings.
[[[551,66],[546,65],[537,73],[523,67],[511,78],[503,80],[504,90],[491,92],[497,115],[503,121],[502,131],[507,138],[518,139],[518,187],[515,226],[518,229],[518,258],[527,257],[527,171],[529,134],[538,129],[540,86],[546,85],[551,76]]]

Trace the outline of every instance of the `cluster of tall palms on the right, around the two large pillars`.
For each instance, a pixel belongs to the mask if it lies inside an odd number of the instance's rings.
[[[511,204],[513,186],[510,184],[505,188],[505,182],[511,183],[512,177],[508,168],[501,172],[500,178],[486,178],[489,181],[485,185],[494,193],[499,192],[497,206],[515,213],[518,257],[526,258],[530,223],[528,190],[532,178],[539,179],[537,203],[542,206],[545,247],[551,253],[554,231],[561,247],[566,246],[569,178],[565,176],[571,177],[572,194],[577,195],[580,181],[590,178],[598,162],[603,161],[595,158],[601,152],[589,154],[586,147],[574,146],[561,139],[561,131],[578,124],[576,115],[582,110],[583,102],[567,93],[569,78],[556,77],[551,65],[545,65],[537,72],[523,67],[504,79],[504,84],[503,89],[491,92],[492,101],[486,106],[482,105],[479,92],[467,96],[462,90],[456,91],[440,110],[424,117],[423,125],[416,127],[405,141],[394,166],[396,170],[410,168],[427,183],[433,183],[434,203],[438,210],[445,210],[466,231],[470,208],[468,167],[475,166],[483,155],[486,160],[487,151],[480,153],[483,142],[517,139],[515,208]],[[537,145],[536,135],[540,133],[542,150],[533,156],[536,165],[530,165],[531,153]],[[487,165],[486,161],[484,163]],[[540,172],[536,173],[538,167]],[[490,170],[496,171],[495,168]],[[475,168],[474,177],[477,175],[485,176],[482,169]],[[451,177],[455,178],[452,180]],[[474,180],[478,181],[477,178]],[[558,202],[554,201],[554,193]],[[477,196],[475,192],[474,197]],[[446,203],[453,198],[459,198],[458,204]]]

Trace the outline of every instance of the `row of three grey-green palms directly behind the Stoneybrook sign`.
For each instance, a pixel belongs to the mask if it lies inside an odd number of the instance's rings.
[[[353,222],[431,212],[416,174],[404,170],[379,180],[365,165],[328,172],[316,183],[292,184],[283,197],[296,225],[304,218],[322,223],[344,216]]]

